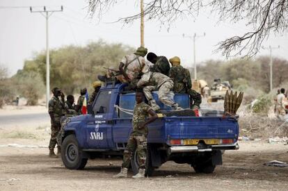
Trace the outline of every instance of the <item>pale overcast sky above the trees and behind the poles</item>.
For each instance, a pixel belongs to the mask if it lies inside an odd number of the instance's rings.
[[[121,1],[120,1],[121,2]],[[132,2],[132,3],[131,3]],[[45,17],[40,13],[30,13],[29,6],[35,10],[64,10],[49,17],[49,45],[57,48],[68,44],[85,45],[90,41],[102,39],[106,42],[121,42],[131,47],[140,45],[140,21],[128,26],[113,23],[119,17],[137,13],[140,9],[134,1],[122,1],[119,6],[109,10],[98,23],[96,19],[87,17],[88,3],[86,0],[1,0],[0,1],[0,64],[8,67],[10,75],[17,69],[22,69],[24,60],[33,58],[33,53],[45,50],[46,28]],[[23,8],[12,8],[21,6]],[[11,7],[11,8],[10,8]],[[233,35],[241,35],[249,28],[245,23],[217,24],[216,15],[201,12],[197,18],[178,20],[167,28],[159,28],[159,23],[145,22],[145,47],[158,55],[179,56],[184,66],[192,66],[193,41],[183,38],[182,34],[197,33],[205,37],[196,41],[196,61],[201,63],[209,59],[225,60],[221,53],[213,53],[216,44]],[[264,42],[265,47],[278,47],[273,56],[288,60],[288,36],[270,35]],[[262,50],[259,55],[269,55],[268,50]]]

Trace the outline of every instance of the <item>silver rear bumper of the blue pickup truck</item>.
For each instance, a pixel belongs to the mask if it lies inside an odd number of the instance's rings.
[[[205,151],[216,151],[216,150],[237,150],[239,149],[239,144],[235,142],[234,144],[222,144],[222,145],[209,145],[207,149],[199,149],[197,145],[195,146],[173,146],[169,147],[169,153],[189,153],[189,152],[205,152]]]

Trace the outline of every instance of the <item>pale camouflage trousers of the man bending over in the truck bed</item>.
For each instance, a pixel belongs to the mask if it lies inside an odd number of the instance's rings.
[[[174,86],[173,81],[169,80],[169,81],[166,81],[165,83],[163,83],[158,90],[159,101],[161,101],[166,106],[170,106],[170,107],[175,104],[175,102],[168,97],[169,92],[171,90],[173,90],[173,86]],[[157,86],[155,86],[155,85],[147,85],[145,88],[143,88],[143,92],[145,94],[145,97],[148,101],[150,101],[153,110],[157,110],[157,109],[155,109],[155,107],[159,108],[159,106],[156,104],[156,102],[152,101],[153,100],[152,91],[155,91],[155,90],[157,90]],[[156,104],[156,106],[154,106],[155,104]]]

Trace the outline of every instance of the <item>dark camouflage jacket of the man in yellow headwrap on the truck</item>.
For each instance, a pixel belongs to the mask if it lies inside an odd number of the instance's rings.
[[[182,66],[173,66],[170,68],[169,77],[174,81],[174,92],[185,93],[192,88],[191,76],[188,69]]]

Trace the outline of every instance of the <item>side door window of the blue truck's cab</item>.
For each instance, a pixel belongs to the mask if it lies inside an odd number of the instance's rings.
[[[109,104],[111,99],[111,91],[102,91],[96,99],[96,103],[93,107],[93,112],[96,113],[108,113]]]

